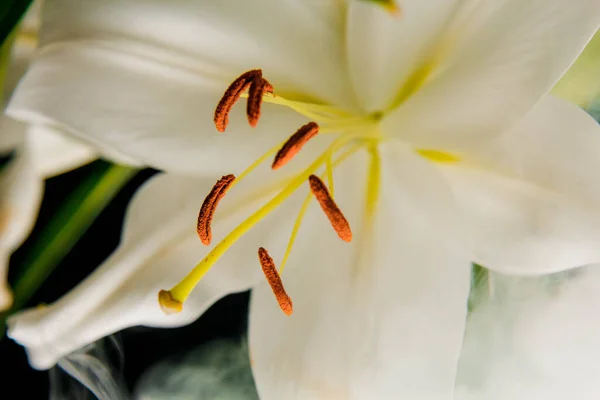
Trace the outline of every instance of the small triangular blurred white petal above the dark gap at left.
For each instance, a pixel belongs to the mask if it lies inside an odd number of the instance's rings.
[[[89,146],[48,125],[29,126],[27,140],[36,169],[42,176],[59,175],[97,158]]]

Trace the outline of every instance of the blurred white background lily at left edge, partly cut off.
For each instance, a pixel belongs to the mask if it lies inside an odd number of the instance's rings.
[[[26,14],[11,49],[3,97],[8,100],[37,46],[41,1]],[[86,164],[97,156],[85,145],[49,125],[29,125],[0,116],[0,155],[10,155],[0,174],[0,310],[12,304],[8,261],[29,235],[43,194],[43,180]]]

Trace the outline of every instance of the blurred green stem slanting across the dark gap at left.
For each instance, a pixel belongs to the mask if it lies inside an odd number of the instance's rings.
[[[71,251],[100,212],[137,170],[110,165],[92,173],[60,206],[23,262],[26,270],[14,285],[14,303],[8,314],[23,308],[38,287]]]

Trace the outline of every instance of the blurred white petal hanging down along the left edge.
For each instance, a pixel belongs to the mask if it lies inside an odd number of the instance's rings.
[[[0,171],[0,310],[10,307],[12,294],[6,283],[11,253],[25,240],[42,199],[42,179],[25,146]]]

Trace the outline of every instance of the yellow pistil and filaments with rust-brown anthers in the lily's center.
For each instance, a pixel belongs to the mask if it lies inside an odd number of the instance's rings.
[[[273,86],[263,78],[262,71],[256,69],[242,74],[233,81],[225,91],[221,101],[219,101],[214,115],[215,127],[219,132],[224,132],[227,129],[229,113],[240,98],[247,99],[246,115],[252,127],[255,127],[259,122],[263,101],[288,107],[310,119],[311,122],[300,127],[286,141],[269,149],[237,178],[230,174],[217,181],[204,200],[198,215],[197,232],[200,240],[205,245],[210,245],[212,241],[211,221],[219,201],[236,184],[252,173],[255,168],[272,157],[271,168],[279,170],[293,159],[309,140],[318,134],[336,134],[337,137],[308,167],[287,180],[278,194],[225,236],[181,282],[168,291],[161,290],[159,292],[158,300],[165,313],[181,311],[183,303],[192,290],[219,258],[239,238],[308,182],[310,191],[298,212],[279,271],[266,249],[261,247],[258,251],[259,262],[265,277],[271,285],[282,311],[286,315],[290,315],[292,313],[292,301],[283,287],[279,274],[283,271],[289,259],[300,225],[313,198],[321,206],[340,239],[346,242],[352,240],[350,223],[334,200],[333,171],[359,150],[366,150],[371,159],[365,194],[366,226],[369,226],[369,221],[374,214],[379,196],[381,168],[378,145],[389,139],[384,137],[379,130],[381,115],[373,114],[357,117],[333,106],[285,99],[274,93]],[[458,161],[457,157],[437,150],[418,149],[416,152],[422,157],[435,162]],[[327,184],[323,182],[325,178]]]

